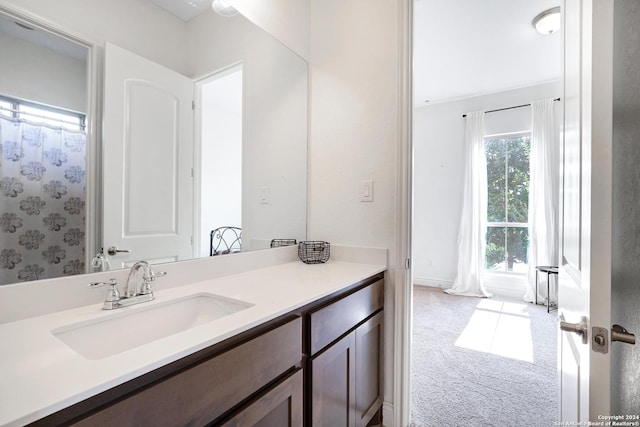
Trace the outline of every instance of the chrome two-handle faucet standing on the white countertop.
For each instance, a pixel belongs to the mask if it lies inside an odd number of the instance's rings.
[[[142,284],[138,288],[136,286],[136,276],[140,269],[142,269]],[[118,282],[116,279],[109,279],[106,282],[89,283],[89,286],[111,286],[107,292],[107,297],[104,300],[102,309],[113,310],[115,308],[139,304],[141,302],[152,301],[155,297],[153,296],[153,290],[151,289],[151,282],[156,280],[157,277],[163,277],[166,275],[167,273],[164,271],[153,271],[147,261],[138,261],[133,264],[129,270],[129,276],[127,277],[127,282],[122,296],[118,291]]]

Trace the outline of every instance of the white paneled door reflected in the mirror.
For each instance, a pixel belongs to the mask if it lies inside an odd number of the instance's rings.
[[[111,267],[193,256],[193,82],[107,43],[103,249]]]

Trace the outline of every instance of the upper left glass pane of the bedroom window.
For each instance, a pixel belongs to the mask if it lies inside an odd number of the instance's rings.
[[[487,221],[505,222],[505,139],[488,139],[485,141],[487,156]]]

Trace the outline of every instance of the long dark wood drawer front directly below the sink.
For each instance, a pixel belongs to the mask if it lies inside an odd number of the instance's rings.
[[[160,381],[75,425],[204,425],[300,364],[296,318],[212,359]]]

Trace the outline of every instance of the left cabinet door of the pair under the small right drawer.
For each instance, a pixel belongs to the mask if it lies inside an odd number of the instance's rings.
[[[355,345],[351,332],[311,360],[311,424],[355,427]]]

